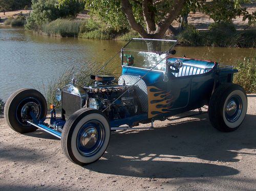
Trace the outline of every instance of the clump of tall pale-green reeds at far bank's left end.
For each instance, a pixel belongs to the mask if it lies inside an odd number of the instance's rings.
[[[42,26],[42,32],[49,36],[77,37],[82,21],[57,19]]]

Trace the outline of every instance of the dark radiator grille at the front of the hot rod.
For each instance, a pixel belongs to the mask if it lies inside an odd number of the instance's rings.
[[[62,118],[68,120],[70,115],[81,109],[81,98],[74,94],[62,91],[61,93]]]

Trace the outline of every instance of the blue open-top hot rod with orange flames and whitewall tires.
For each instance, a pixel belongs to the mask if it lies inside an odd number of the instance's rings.
[[[61,139],[63,153],[74,163],[98,160],[112,131],[143,129],[139,124],[208,106],[209,120],[220,131],[236,130],[247,111],[244,89],[232,83],[238,70],[216,62],[173,57],[176,41],[132,39],[120,51],[122,74],[91,75],[89,87],[72,83],[56,90],[61,117],[35,89],[20,89],[6,102],[8,125],[19,133],[37,128]],[[119,54],[119,53],[118,53]],[[108,64],[108,63],[106,63]],[[104,65],[105,66],[105,65]]]

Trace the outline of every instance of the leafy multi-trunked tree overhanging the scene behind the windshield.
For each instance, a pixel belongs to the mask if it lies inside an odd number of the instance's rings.
[[[70,0],[59,0],[60,5]],[[127,24],[143,38],[163,38],[166,30],[172,27],[172,22],[180,20],[181,27],[186,22],[189,12],[202,11],[215,21],[231,21],[242,15],[255,19],[241,8],[241,3],[250,0],[80,0],[102,20],[116,28]],[[255,15],[255,14],[254,14]],[[177,31],[176,31],[177,32]]]

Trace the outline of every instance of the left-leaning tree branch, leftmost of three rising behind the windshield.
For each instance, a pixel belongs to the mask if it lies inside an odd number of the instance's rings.
[[[129,25],[135,30],[137,31],[143,38],[147,37],[148,34],[146,33],[146,31],[143,29],[143,27],[136,22],[134,15],[133,15],[133,7],[131,5],[131,3],[129,2],[129,0],[121,0],[121,9],[124,12]]]

